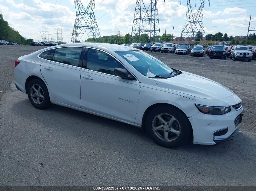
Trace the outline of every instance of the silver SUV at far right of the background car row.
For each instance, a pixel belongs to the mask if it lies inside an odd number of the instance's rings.
[[[230,52],[229,59],[236,61],[237,59],[247,59],[248,62],[251,62],[252,53],[249,50],[248,46],[233,46]]]

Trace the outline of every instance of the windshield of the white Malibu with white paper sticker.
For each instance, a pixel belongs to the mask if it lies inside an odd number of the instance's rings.
[[[138,72],[147,77],[168,77],[172,70],[164,62],[142,51],[117,51],[115,52],[131,64]]]

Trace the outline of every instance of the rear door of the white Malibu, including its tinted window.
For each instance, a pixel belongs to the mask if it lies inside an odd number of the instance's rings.
[[[82,47],[61,47],[52,49],[49,57],[40,55],[44,59],[40,69],[48,91],[56,102],[80,107],[80,75]]]

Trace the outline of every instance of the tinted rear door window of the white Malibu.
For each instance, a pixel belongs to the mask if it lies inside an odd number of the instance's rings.
[[[78,66],[82,47],[57,48],[53,55],[53,61]]]

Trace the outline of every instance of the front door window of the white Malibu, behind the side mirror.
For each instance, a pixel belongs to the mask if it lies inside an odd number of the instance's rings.
[[[87,69],[105,74],[115,74],[115,68],[125,67],[115,58],[100,50],[88,49]]]

